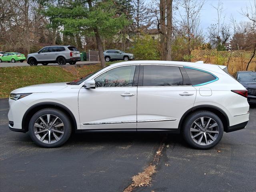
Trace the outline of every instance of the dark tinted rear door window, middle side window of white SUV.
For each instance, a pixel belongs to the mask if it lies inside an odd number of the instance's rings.
[[[178,67],[144,66],[143,86],[182,86],[183,78]]]

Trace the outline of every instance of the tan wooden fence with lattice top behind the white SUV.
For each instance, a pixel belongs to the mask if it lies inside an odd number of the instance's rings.
[[[191,62],[204,61],[204,63],[212,63],[228,66],[228,72],[235,74],[237,71],[246,70],[246,66],[252,58],[252,51],[217,51],[210,50],[192,50]],[[256,54],[252,58],[248,70],[256,70]]]

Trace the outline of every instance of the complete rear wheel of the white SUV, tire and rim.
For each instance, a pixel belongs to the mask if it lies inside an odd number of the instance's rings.
[[[202,120],[204,121],[203,126]],[[210,122],[208,123],[209,120]],[[216,114],[210,111],[197,111],[190,114],[182,127],[182,134],[186,142],[197,149],[210,149],[214,147],[220,142],[223,132],[222,121]]]

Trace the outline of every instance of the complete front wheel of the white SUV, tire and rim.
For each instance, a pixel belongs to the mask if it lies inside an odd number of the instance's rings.
[[[41,119],[48,127],[44,126]],[[48,122],[50,124],[55,122],[53,125],[58,125],[58,127],[52,127]],[[55,108],[45,108],[32,116],[28,125],[28,131],[31,139],[38,146],[54,148],[63,145],[68,140],[72,132],[72,126],[70,118],[64,112]]]

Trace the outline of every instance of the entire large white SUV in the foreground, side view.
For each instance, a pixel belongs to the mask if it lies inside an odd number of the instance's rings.
[[[223,132],[245,128],[247,90],[226,66],[129,61],[78,82],[11,92],[9,128],[42,147],[64,144],[72,131],[182,133],[194,148],[215,146]]]

